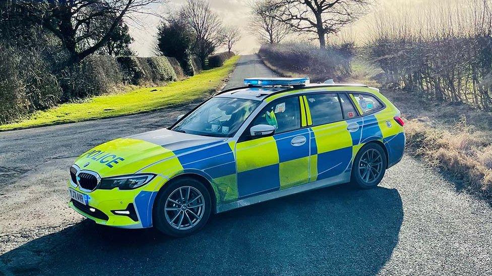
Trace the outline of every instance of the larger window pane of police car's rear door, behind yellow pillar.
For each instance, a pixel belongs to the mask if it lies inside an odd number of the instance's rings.
[[[313,125],[343,120],[342,108],[335,93],[306,95]]]

